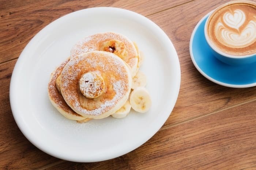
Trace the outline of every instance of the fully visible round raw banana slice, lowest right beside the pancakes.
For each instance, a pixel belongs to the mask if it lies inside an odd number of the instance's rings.
[[[130,103],[135,111],[145,113],[150,109],[152,101],[146,88],[138,87],[132,91]]]

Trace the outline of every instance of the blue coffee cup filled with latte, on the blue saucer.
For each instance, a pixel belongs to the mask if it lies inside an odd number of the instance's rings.
[[[256,3],[231,1],[215,9],[204,26],[211,52],[229,65],[256,62]]]

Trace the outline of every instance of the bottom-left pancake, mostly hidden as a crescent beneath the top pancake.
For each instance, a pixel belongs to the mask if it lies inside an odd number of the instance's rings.
[[[68,63],[69,59],[63,62],[52,74],[50,77],[50,81],[48,84],[48,96],[52,103],[52,105],[65,117],[71,120],[84,120],[85,117],[79,115],[78,113],[74,112],[65,102],[64,98],[62,97],[61,93],[59,92],[56,80],[61,75],[61,71],[63,70],[64,66]],[[87,119],[89,120],[89,119]]]

